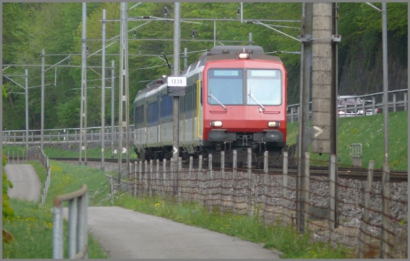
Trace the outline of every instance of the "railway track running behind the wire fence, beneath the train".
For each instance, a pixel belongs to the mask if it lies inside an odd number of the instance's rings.
[[[75,161],[78,158],[63,158],[63,157],[50,157],[50,159],[54,160],[61,160],[61,161]],[[84,160],[84,158],[83,158]],[[87,158],[90,162],[100,162],[100,158]],[[134,160],[131,160],[134,161]],[[105,162],[107,163],[118,163],[118,159],[116,158],[106,158]],[[122,159],[122,163],[126,163],[126,159]],[[217,168],[217,167],[216,167]],[[229,168],[227,168],[228,170]],[[282,172],[282,166],[274,165],[269,166],[269,170],[272,172]],[[297,166],[289,166],[288,173],[296,175],[297,173]],[[327,167],[315,167],[311,166],[311,175],[316,176],[326,176],[329,175],[329,169]],[[367,169],[361,168],[340,168],[338,169],[338,177],[339,178],[351,178],[351,179],[360,179],[366,180],[368,175]],[[405,170],[391,170],[390,171],[390,180],[391,182],[407,182],[408,172]],[[373,171],[373,180],[381,181],[382,178],[382,170],[376,169]]]

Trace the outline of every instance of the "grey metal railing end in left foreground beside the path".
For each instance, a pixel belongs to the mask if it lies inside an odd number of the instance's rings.
[[[87,258],[87,185],[72,193],[57,196],[53,207],[53,258],[62,259],[64,253],[63,202],[68,201],[69,258]]]

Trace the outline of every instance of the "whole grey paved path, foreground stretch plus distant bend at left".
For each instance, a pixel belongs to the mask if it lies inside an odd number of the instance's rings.
[[[10,196],[39,198],[31,165],[8,164],[5,171],[14,186]],[[90,232],[112,259],[279,259],[249,241],[121,207],[88,207],[87,214]]]

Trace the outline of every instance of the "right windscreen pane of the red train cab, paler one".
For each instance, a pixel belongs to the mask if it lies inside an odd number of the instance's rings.
[[[247,104],[280,105],[281,90],[280,70],[247,70]]]

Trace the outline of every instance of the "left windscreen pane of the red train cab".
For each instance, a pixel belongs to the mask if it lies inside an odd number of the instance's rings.
[[[242,69],[210,69],[208,71],[208,103],[242,105],[243,71]]]

